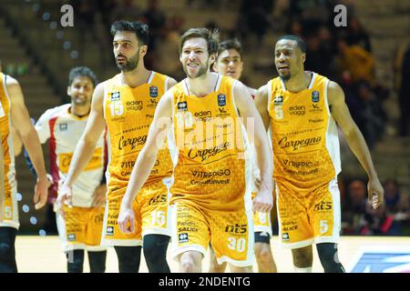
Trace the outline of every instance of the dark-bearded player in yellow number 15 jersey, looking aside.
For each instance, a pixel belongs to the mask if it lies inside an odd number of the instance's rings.
[[[111,25],[111,34],[121,73],[97,85],[94,91],[86,129],[72,157],[58,203],[62,205],[66,199],[71,203],[73,183],[87,165],[97,139],[107,125],[110,143],[108,194],[101,243],[115,246],[119,272],[138,272],[141,245],[149,272],[169,272],[166,259],[170,236],[169,180],[172,175],[169,150],[155,156],[156,167],[133,204],[138,231],[132,235],[122,234],[117,219],[131,169],[147,140],[155,108],[161,95],[176,81],[145,68],[148,25],[118,21]]]

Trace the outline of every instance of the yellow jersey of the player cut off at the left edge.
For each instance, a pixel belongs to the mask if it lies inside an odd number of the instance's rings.
[[[5,207],[12,206],[12,193],[16,191],[15,155],[13,137],[11,135],[11,101],[7,95],[5,79],[7,75],[0,73],[0,132],[5,161]],[[15,191],[13,191],[15,190]],[[11,212],[5,212],[5,219],[11,218]]]

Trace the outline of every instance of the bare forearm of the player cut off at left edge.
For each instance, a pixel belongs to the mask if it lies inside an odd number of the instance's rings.
[[[46,178],[46,166],[44,163],[43,148],[41,147],[40,140],[34,127],[28,130],[24,135],[21,135],[23,144],[26,147],[28,156],[36,169],[36,175],[38,178]]]

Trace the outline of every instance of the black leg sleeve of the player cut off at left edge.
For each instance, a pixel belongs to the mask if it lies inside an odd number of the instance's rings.
[[[0,273],[17,273],[15,234],[13,227],[0,227]]]

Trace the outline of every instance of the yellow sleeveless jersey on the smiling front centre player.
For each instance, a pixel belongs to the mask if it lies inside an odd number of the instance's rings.
[[[215,91],[190,95],[185,81],[172,87],[174,161],[170,203],[215,211],[237,211],[251,201],[249,143],[232,89],[236,82],[218,75]]]

